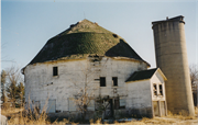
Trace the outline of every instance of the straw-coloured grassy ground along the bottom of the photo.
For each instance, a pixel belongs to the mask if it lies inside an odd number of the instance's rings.
[[[50,122],[46,116],[42,116],[42,118],[36,118],[36,115],[31,115],[31,116],[22,116],[22,111],[23,109],[7,109],[7,110],[1,110],[1,114],[6,115],[9,121],[9,124],[75,124],[73,122],[69,122],[68,120],[62,120],[62,121],[55,121],[55,122]],[[20,118],[22,116],[22,118]],[[128,121],[130,120],[130,121]],[[132,121],[131,121],[132,120]],[[122,121],[122,122],[121,122]],[[179,115],[173,115],[172,113],[168,113],[168,116],[166,117],[155,117],[155,118],[146,118],[143,117],[141,120],[135,120],[135,118],[125,118],[121,120],[120,122],[114,122],[114,124],[119,125],[197,125],[198,124],[198,109],[196,107],[196,116],[185,116],[183,114]],[[123,122],[125,121],[125,122]],[[22,122],[22,123],[21,123]],[[96,121],[95,123],[90,120],[89,121],[91,125],[100,125],[102,122],[100,120]],[[108,124],[105,122],[103,124]]]

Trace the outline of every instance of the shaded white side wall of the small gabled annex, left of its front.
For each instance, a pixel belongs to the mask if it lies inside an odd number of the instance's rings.
[[[152,117],[152,96],[150,80],[129,82],[127,109],[129,114]]]

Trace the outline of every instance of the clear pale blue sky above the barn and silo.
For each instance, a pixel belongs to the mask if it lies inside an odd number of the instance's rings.
[[[1,0],[1,69],[25,67],[45,43],[87,19],[156,67],[152,22],[185,16],[188,64],[198,64],[198,0]]]

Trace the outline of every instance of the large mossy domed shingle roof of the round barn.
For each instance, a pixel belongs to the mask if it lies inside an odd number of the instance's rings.
[[[97,23],[82,20],[48,39],[30,64],[80,59],[90,54],[143,60],[122,37]]]

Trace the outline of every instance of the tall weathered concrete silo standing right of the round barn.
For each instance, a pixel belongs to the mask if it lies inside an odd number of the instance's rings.
[[[152,22],[156,65],[167,77],[167,110],[195,115],[187,59],[184,16]]]

